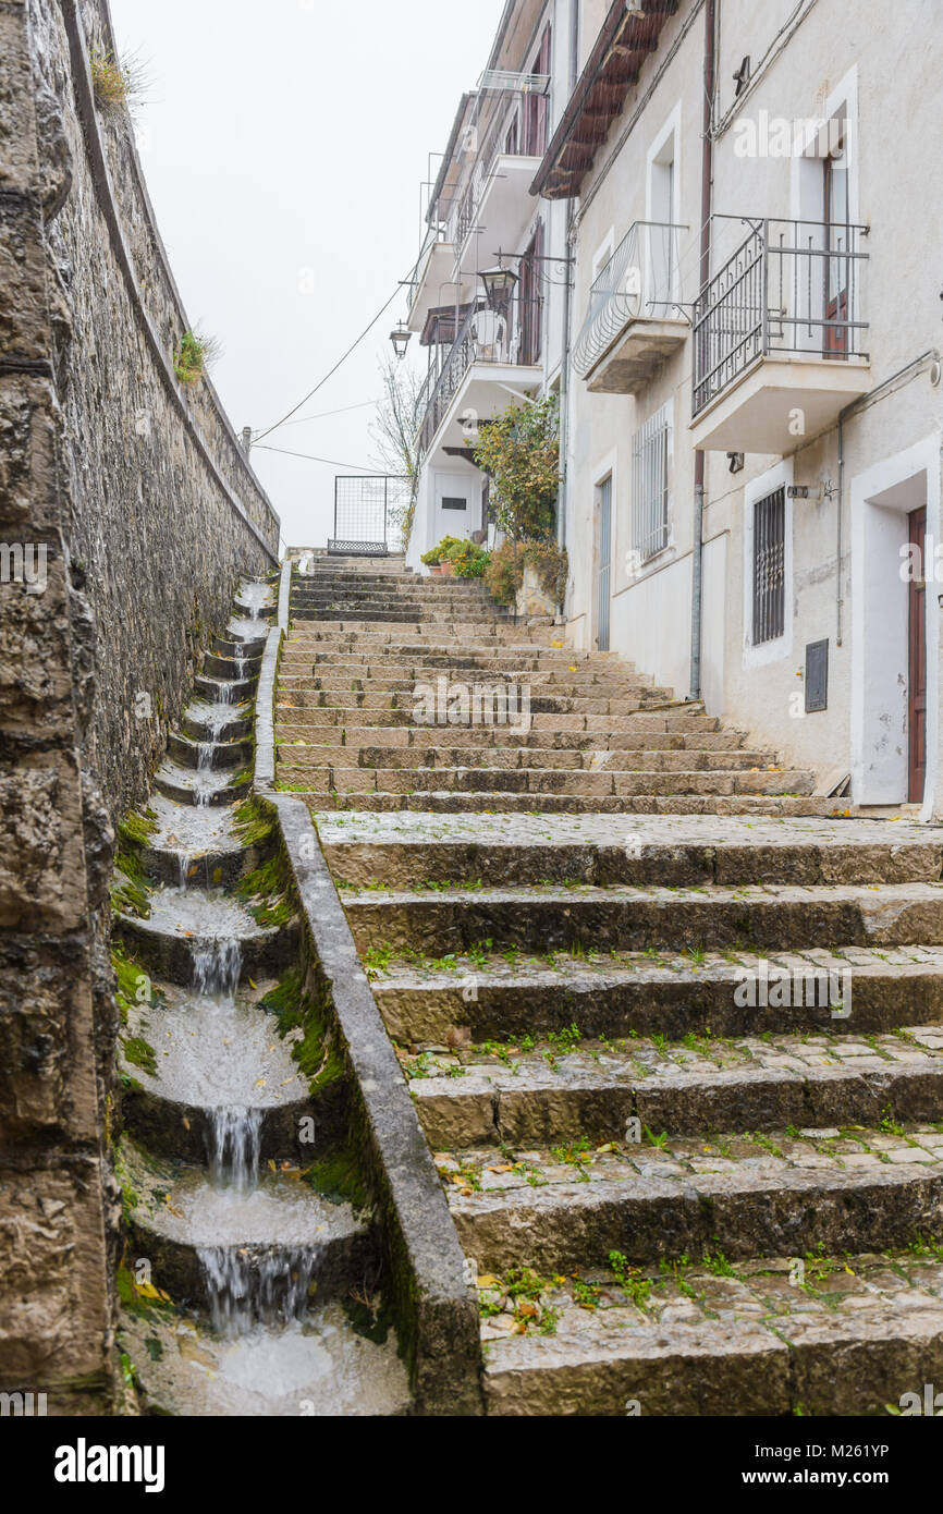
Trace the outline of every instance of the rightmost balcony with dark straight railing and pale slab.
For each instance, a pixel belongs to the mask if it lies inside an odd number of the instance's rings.
[[[736,247],[693,306],[692,441],[707,451],[786,457],[870,385],[867,227],[713,221],[713,245],[736,230]]]

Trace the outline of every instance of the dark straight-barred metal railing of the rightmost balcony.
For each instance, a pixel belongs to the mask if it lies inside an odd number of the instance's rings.
[[[867,356],[861,319],[867,227],[749,217],[711,221],[739,221],[748,233],[695,300],[695,416],[758,357]]]

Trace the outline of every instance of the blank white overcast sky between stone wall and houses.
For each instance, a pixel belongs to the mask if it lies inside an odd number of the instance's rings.
[[[501,11],[112,0],[118,50],[138,53],[150,80],[138,145],[157,224],[191,322],[223,342],[213,383],[236,430],[285,415],[410,271],[427,154],[443,150]],[[404,306],[400,294],[298,415],[377,398]],[[253,451],[288,545],[324,545],[335,474],[377,463],[371,419],[365,407],[266,438],[341,468]]]

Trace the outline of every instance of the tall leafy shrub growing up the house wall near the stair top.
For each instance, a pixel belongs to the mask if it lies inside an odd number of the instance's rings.
[[[481,425],[475,463],[492,480],[498,527],[515,540],[551,540],[560,484],[560,404],[512,404]]]

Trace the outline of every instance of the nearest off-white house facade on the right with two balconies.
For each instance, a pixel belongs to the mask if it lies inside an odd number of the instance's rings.
[[[531,183],[574,259],[568,636],[938,815],[938,6],[580,11]]]

